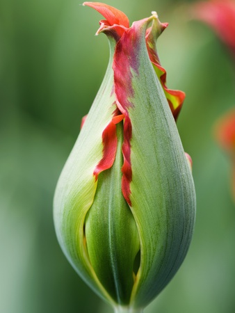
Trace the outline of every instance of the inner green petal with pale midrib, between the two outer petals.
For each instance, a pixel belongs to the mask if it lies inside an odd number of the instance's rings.
[[[86,241],[90,262],[100,282],[116,303],[127,305],[140,242],[121,190],[122,122],[117,125],[117,138],[115,162],[99,175],[95,200],[86,218]]]

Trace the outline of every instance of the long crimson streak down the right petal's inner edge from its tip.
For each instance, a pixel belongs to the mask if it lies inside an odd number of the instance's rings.
[[[142,29],[147,19],[135,22],[130,29],[124,32],[122,38],[117,42],[113,58],[114,87],[118,109],[124,115],[124,141],[122,145],[123,166],[122,166],[122,194],[131,206],[131,137],[132,126],[129,118],[129,108],[133,108],[131,99],[134,95],[132,87],[132,72],[138,74],[138,51],[140,49],[141,36],[145,36],[145,29]],[[143,32],[144,30],[144,32]]]

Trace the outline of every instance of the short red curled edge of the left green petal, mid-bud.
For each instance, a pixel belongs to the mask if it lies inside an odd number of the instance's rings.
[[[115,154],[117,150],[117,134],[116,134],[116,126],[111,121],[108,126],[104,129],[102,133],[102,143],[103,143],[103,157],[97,164],[93,175],[95,175],[95,179],[97,180],[98,175],[103,170],[108,170],[113,166],[113,162],[115,160]]]

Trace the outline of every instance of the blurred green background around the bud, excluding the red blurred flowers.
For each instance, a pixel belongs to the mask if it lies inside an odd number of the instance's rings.
[[[130,21],[159,13],[168,87],[184,90],[177,122],[193,158],[197,221],[175,278],[146,313],[235,312],[235,206],[231,164],[213,127],[235,103],[235,67],[193,1],[108,0]],[[0,312],[110,313],[58,246],[56,182],[108,63],[102,17],[75,0],[0,0]]]

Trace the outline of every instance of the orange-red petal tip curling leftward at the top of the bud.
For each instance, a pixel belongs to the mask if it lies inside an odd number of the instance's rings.
[[[113,6],[108,6],[105,3],[100,2],[84,2],[83,6],[90,6],[94,8],[100,14],[102,14],[110,26],[117,24],[129,28],[129,19],[122,11],[113,8]]]

